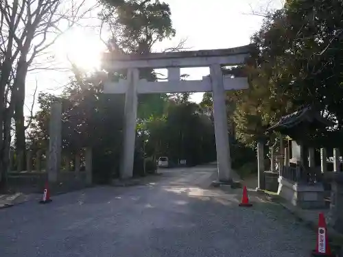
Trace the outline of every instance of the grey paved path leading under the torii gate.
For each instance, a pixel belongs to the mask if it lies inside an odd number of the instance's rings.
[[[206,188],[212,171],[171,169],[145,186],[1,209],[0,256],[309,256],[312,232],[274,204],[237,207],[237,192]]]

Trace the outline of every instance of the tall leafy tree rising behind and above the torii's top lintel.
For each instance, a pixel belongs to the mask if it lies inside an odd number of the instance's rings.
[[[175,36],[171,23],[171,11],[167,3],[153,0],[102,0],[103,9],[99,18],[104,29],[110,32],[106,40],[110,53],[147,54],[158,41]],[[178,51],[183,44],[166,51]],[[122,73],[123,71],[118,71]],[[141,69],[141,77],[155,81],[153,69]],[[165,94],[139,95],[140,119],[150,115],[161,116],[165,109]]]

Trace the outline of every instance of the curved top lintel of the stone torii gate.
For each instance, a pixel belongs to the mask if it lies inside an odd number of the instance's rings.
[[[228,49],[178,51],[168,53],[119,54],[105,53],[102,61],[106,70],[130,68],[168,68],[209,66],[211,64],[235,65],[244,63],[251,45]]]

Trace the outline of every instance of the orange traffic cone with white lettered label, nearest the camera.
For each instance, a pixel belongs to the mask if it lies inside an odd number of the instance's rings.
[[[327,223],[322,212],[319,213],[316,249],[312,251],[312,256],[334,256],[331,254],[327,236]]]

